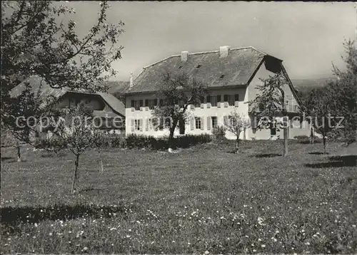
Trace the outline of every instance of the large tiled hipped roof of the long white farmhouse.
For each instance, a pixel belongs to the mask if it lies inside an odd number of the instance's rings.
[[[188,54],[186,62],[181,61],[181,55],[170,56],[144,68],[135,78],[133,88],[127,89],[125,93],[154,92],[163,82],[164,74],[167,72],[186,73],[189,78],[196,77],[202,80],[208,88],[245,86],[268,54],[253,47],[244,47],[232,48],[226,58],[219,56],[219,51],[191,53]]]

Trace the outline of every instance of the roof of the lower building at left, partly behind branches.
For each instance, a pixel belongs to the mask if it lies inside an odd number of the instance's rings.
[[[69,90],[69,88],[51,88],[46,81],[39,76],[31,76],[30,78],[24,80],[22,83],[17,85],[10,91],[12,97],[16,97],[21,94],[21,92],[26,88],[25,83],[29,83],[31,90],[35,95],[41,97],[46,97],[49,95],[54,96],[55,98],[61,98],[64,94],[68,93],[80,93],[80,94],[90,94],[90,95],[99,95],[108,105],[119,115],[125,116],[125,106],[118,98],[114,97],[109,93],[89,93],[84,91],[74,91]]]

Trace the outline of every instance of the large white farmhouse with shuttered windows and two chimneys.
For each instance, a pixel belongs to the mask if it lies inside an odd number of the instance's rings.
[[[252,120],[252,125],[242,138],[269,139],[271,130],[260,130],[253,124],[254,113],[248,107],[248,101],[256,97],[259,78],[268,78],[275,73],[283,72],[288,80],[284,85],[286,109],[291,119],[298,116],[299,99],[290,78],[283,66],[283,61],[268,55],[251,46],[230,48],[221,46],[218,51],[188,53],[169,56],[159,62],[146,66],[135,79],[131,77],[129,88],[125,91],[126,98],[126,135],[166,136],[169,130],[152,128],[152,113],[160,98],[156,91],[164,83],[165,73],[186,73],[190,78],[198,78],[208,86],[206,100],[200,105],[191,105],[193,118],[185,124],[184,130],[176,130],[175,135],[210,134],[218,125],[223,125],[224,118],[236,109],[238,113]],[[309,135],[307,122],[295,120],[290,123],[289,138],[296,135]],[[283,137],[283,130],[276,130],[276,135]],[[234,135],[227,133],[228,139]]]

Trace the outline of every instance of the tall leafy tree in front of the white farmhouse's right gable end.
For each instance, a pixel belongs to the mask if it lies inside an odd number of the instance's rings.
[[[274,76],[269,76],[266,79],[261,79],[262,85],[258,85],[258,95],[253,100],[248,102],[253,113],[256,113],[258,118],[268,119],[273,123],[279,115],[285,116],[287,113],[285,104],[285,91],[283,86],[288,83],[283,72],[276,73]],[[261,125],[263,128],[271,128],[268,121],[264,121],[266,125]],[[283,123],[280,125],[283,128],[284,152],[283,155],[288,155],[288,120],[283,118]],[[274,127],[275,128],[275,127]]]

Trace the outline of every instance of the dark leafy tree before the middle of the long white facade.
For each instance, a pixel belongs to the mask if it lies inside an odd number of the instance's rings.
[[[160,98],[159,106],[154,109],[154,117],[161,120],[170,120],[169,147],[172,146],[176,127],[184,127],[186,120],[191,117],[187,112],[190,105],[203,103],[207,86],[196,78],[188,78],[186,73],[173,75],[166,73],[164,82],[157,92]]]

